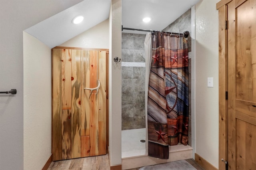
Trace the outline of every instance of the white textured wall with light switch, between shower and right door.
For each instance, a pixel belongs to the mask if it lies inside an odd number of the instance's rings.
[[[219,0],[196,5],[195,133],[196,153],[218,168],[218,10]],[[213,77],[213,88],[207,78]]]

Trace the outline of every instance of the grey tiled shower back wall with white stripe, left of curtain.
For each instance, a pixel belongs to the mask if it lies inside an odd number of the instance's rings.
[[[146,127],[145,37],[122,33],[122,130]]]

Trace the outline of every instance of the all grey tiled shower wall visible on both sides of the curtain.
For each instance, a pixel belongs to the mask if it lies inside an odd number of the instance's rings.
[[[191,33],[191,9],[162,31]],[[122,130],[145,128],[144,34],[122,33]],[[189,141],[191,146],[191,37],[189,52]],[[141,64],[141,65],[140,65]]]

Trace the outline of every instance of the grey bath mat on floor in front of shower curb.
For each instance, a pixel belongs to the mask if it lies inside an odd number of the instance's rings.
[[[179,161],[168,162],[164,164],[144,166],[139,170],[196,170],[196,168],[194,168],[194,166],[192,166],[186,160],[179,160]]]

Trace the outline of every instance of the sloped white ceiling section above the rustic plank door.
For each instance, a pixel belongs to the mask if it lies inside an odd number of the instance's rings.
[[[25,31],[53,48],[105,21],[109,11],[110,0],[84,0]],[[84,16],[83,22],[73,24],[78,15]]]

